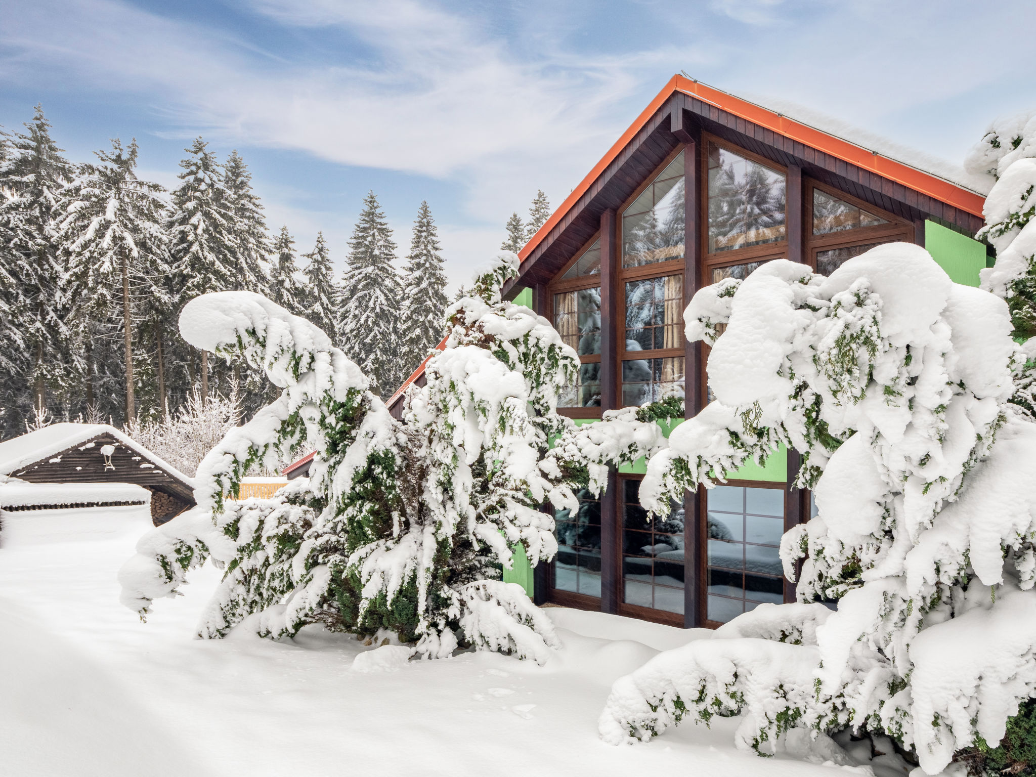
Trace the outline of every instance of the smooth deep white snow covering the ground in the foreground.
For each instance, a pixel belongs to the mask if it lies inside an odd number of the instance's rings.
[[[374,648],[322,627],[282,642],[196,639],[210,568],[142,624],[115,576],[150,521],[87,512],[4,516],[0,774],[871,774],[739,752],[736,720],[601,742],[611,683],[703,629],[550,608],[565,649],[542,667],[488,653],[385,667],[383,649],[354,668]]]

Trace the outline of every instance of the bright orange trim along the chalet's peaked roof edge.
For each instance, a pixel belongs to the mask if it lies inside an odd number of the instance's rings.
[[[675,92],[690,94],[696,99],[716,106],[727,113],[731,113],[735,116],[771,130],[778,135],[783,135],[785,138],[790,138],[799,143],[815,148],[818,151],[831,154],[843,162],[848,162],[859,168],[869,170],[889,180],[894,180],[909,189],[913,189],[915,192],[928,195],[940,202],[945,202],[973,215],[982,215],[982,205],[985,202],[985,198],[982,195],[970,192],[945,178],[940,178],[938,175],[926,173],[902,162],[897,162],[884,154],[876,153],[869,148],[864,148],[847,140],[836,138],[822,130],[802,124],[794,119],[789,119],[787,116],[782,116],[779,113],[741,99],[732,94],[713,89],[684,76],[673,76],[663,87],[662,91],[655,95],[655,99],[630,124],[630,127],[623,133],[623,136],[608,149],[608,152],[601,161],[594,166],[594,169],[587,173],[586,177],[580,181],[579,185],[572,191],[572,194],[565,199],[560,207],[553,212],[547,222],[540,227],[540,230],[533,235],[531,239],[525,243],[524,248],[518,252],[518,256],[523,261],[536,250],[536,247],[540,244],[550,230],[565,218],[569,210],[579,201],[579,198],[594,184],[597,177],[604,172],[605,168],[618,156],[623,148],[626,147],[626,144],[640,132],[643,125],[655,115],[655,112]]]

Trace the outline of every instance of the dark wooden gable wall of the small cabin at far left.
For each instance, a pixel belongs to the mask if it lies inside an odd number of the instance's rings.
[[[115,449],[110,457],[102,454],[105,445]],[[10,474],[28,483],[134,483],[143,486],[152,493],[151,518],[155,525],[196,503],[190,484],[107,433],[46,456]]]

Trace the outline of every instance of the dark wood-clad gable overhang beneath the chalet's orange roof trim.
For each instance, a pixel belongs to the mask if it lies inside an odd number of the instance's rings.
[[[974,213],[794,141],[693,95],[677,92],[659,107],[525,257],[518,278],[505,284],[505,297],[514,298],[523,287],[548,283],[601,228],[605,211],[618,210],[678,145],[696,139],[701,131],[785,167],[799,168],[805,175],[918,227],[927,219],[971,237],[984,223]],[[916,232],[919,236],[924,234],[923,229]]]

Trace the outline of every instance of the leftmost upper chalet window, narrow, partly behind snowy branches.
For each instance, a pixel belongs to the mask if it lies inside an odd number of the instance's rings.
[[[579,252],[551,286],[554,328],[579,354],[576,381],[557,398],[563,408],[601,406],[601,240]],[[585,411],[583,411],[585,412]]]

